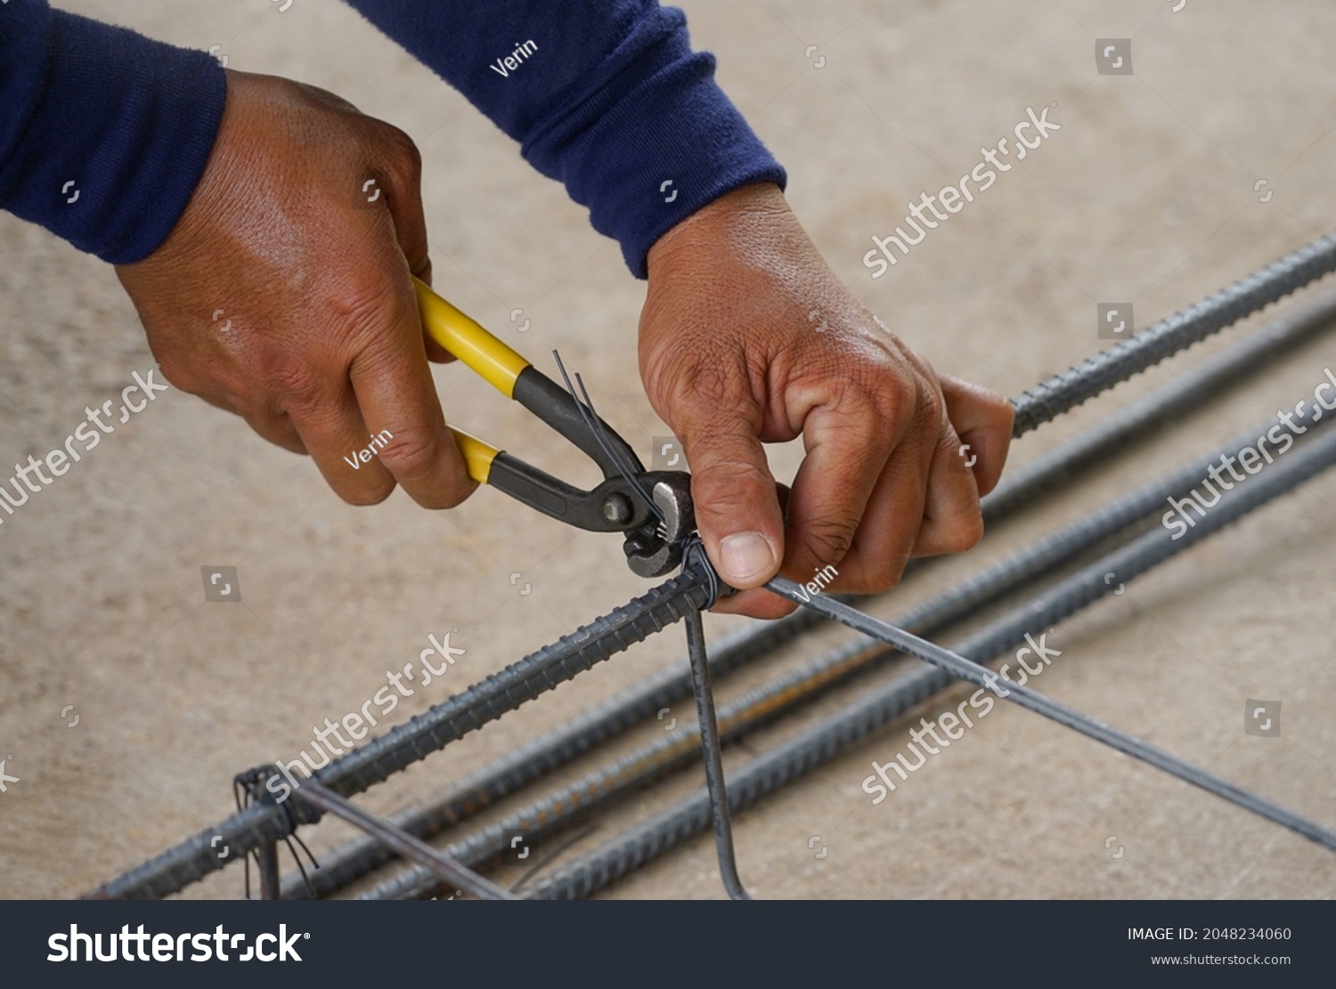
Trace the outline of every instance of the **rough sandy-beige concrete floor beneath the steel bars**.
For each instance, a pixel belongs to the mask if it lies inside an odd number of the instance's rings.
[[[235,68],[322,85],[406,129],[426,163],[437,286],[530,356],[560,347],[605,418],[647,455],[667,432],[636,374],[643,286],[616,246],[349,8],[60,5],[184,45],[219,44]],[[1098,302],[1132,300],[1138,326],[1149,324],[1336,216],[1336,9],[1327,5],[683,5],[696,45],[719,55],[724,88],[790,170],[790,200],[840,276],[937,367],[1009,395],[1108,346],[1096,336]],[[1132,37],[1134,75],[1098,75],[1096,37]],[[884,278],[870,278],[871,235],[891,232],[922,190],[955,182],[1027,107],[1053,103],[1061,131]],[[0,463],[11,463],[59,446],[84,406],[119,392],[152,358],[107,266],[9,216],[0,216]],[[532,322],[522,335],[513,308]],[[1045,427],[1014,448],[1014,463],[1242,332]],[[923,571],[880,610],[1267,420],[1309,396],[1333,363],[1333,338],[1303,348],[1053,492],[977,551]],[[588,479],[578,456],[548,448],[520,410],[466,372],[436,374],[448,416]],[[791,472],[795,451],[778,448],[775,463]],[[1050,642],[1063,655],[1038,686],[1336,825],[1333,506],[1336,475],[1319,478],[1062,623]],[[242,607],[204,603],[202,565],[238,567]],[[234,773],[294,758],[310,725],[357,710],[428,633],[458,626],[453,645],[466,654],[450,682],[407,699],[398,719],[643,587],[615,539],[576,534],[496,492],[450,513],[422,511],[402,492],[374,509],[345,506],[305,459],[168,392],[0,527],[0,757],[20,778],[0,795],[0,894],[76,896],[222,819]],[[740,621],[712,617],[711,635]],[[824,633],[725,681],[721,701],[839,638]],[[385,813],[425,799],[681,662],[680,634],[656,637],[361,799]],[[1246,698],[1283,701],[1280,738],[1244,734]],[[740,869],[756,896],[1327,897],[1336,882],[1336,858],[1316,845],[1014,709],[991,713],[871,806],[860,781],[872,759],[904,746],[910,723],[740,815]],[[633,733],[617,751],[659,730]],[[763,750],[792,730],[747,746]],[[729,765],[745,758],[744,749],[728,754]],[[581,848],[699,783],[693,773],[635,801]],[[319,853],[349,834],[329,823],[307,838]],[[236,869],[186,892],[239,894]],[[691,844],[612,894],[721,896],[712,844]]]

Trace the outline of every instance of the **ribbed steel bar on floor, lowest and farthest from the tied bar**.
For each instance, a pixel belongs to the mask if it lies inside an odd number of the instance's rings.
[[[1059,581],[1033,601],[1011,609],[957,643],[954,651],[979,662],[1001,655],[1023,642],[1026,633],[1062,621],[1089,603],[1113,594],[1114,587],[1105,579],[1106,574],[1117,574],[1118,582],[1133,581],[1249,511],[1287,494],[1333,463],[1336,463],[1336,434],[1328,434],[1292,451],[1285,460],[1272,464],[1265,472],[1252,478],[1246,486],[1230,492],[1182,538],[1173,539],[1166,530],[1154,529]],[[951,671],[921,665],[911,673],[868,691],[729,775],[729,806],[733,811],[751,806],[864,741],[887,722],[954,681],[955,675]],[[1013,686],[1006,681],[999,683],[1006,689]],[[709,819],[708,797],[704,790],[699,790],[623,836],[605,842],[588,856],[538,880],[528,896],[534,900],[589,896],[699,834],[709,826]]]

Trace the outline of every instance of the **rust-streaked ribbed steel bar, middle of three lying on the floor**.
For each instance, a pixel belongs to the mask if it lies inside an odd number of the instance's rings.
[[[1299,438],[1303,443],[1325,428],[1332,418],[1309,426]],[[1236,459],[1240,450],[1256,442],[1267,424],[1240,434],[1232,443],[1220,447]],[[1170,475],[1124,495],[1109,505],[1083,515],[1078,521],[1027,546],[974,577],[953,585],[908,611],[891,619],[892,625],[918,635],[934,635],[951,622],[977,614],[1001,597],[1025,586],[1029,581],[1062,567],[1101,542],[1128,530],[1138,521],[1162,510],[1165,499],[1181,497],[1205,476],[1206,468],[1218,463],[1220,454],[1204,455]],[[822,658],[749,691],[745,697],[724,706],[719,714],[720,734],[732,739],[755,731],[764,723],[787,714],[823,695],[830,689],[844,685],[866,674],[886,659],[899,657],[876,639],[859,635],[842,643]],[[950,681],[943,679],[943,686]],[[454,844],[449,854],[470,865],[497,858],[505,853],[508,836],[524,834],[529,842],[545,841],[577,821],[595,807],[608,806],[655,779],[696,765],[693,758],[695,733],[687,738],[661,738],[601,766],[577,782],[548,797],[529,803],[469,838]],[[422,869],[407,869],[381,885],[363,898],[405,900],[428,897],[438,884]]]

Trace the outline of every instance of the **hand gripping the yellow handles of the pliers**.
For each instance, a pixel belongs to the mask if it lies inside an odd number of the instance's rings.
[[[116,270],[172,384],[310,452],[354,505],[395,482],[428,507],[474,487],[409,278],[430,279],[420,167],[407,135],[337,96],[228,72],[190,206]]]

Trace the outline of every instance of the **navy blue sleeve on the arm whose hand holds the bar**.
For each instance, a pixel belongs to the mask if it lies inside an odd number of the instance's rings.
[[[660,235],[775,161],[657,0],[349,0],[589,207],[645,276]]]

